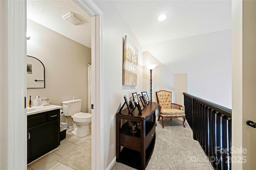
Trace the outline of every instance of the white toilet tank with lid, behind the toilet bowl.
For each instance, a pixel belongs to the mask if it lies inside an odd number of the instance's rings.
[[[64,111],[64,116],[71,116],[76,113],[81,112],[82,100],[67,100],[62,102],[62,109]]]

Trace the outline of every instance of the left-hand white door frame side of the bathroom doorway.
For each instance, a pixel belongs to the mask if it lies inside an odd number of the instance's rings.
[[[0,169],[26,169],[26,1],[0,8]]]

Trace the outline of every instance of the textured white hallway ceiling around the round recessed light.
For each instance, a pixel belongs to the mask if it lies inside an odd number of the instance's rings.
[[[231,29],[231,1],[115,0],[140,44],[148,45]],[[157,21],[167,14],[165,21]]]

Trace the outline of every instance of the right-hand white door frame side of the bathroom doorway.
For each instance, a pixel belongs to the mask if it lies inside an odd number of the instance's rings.
[[[91,17],[92,30],[92,169],[104,169],[103,12],[92,0],[73,0]]]

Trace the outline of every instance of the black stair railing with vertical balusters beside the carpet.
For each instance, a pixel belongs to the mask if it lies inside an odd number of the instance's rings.
[[[186,120],[215,170],[231,170],[232,110],[187,93]]]

